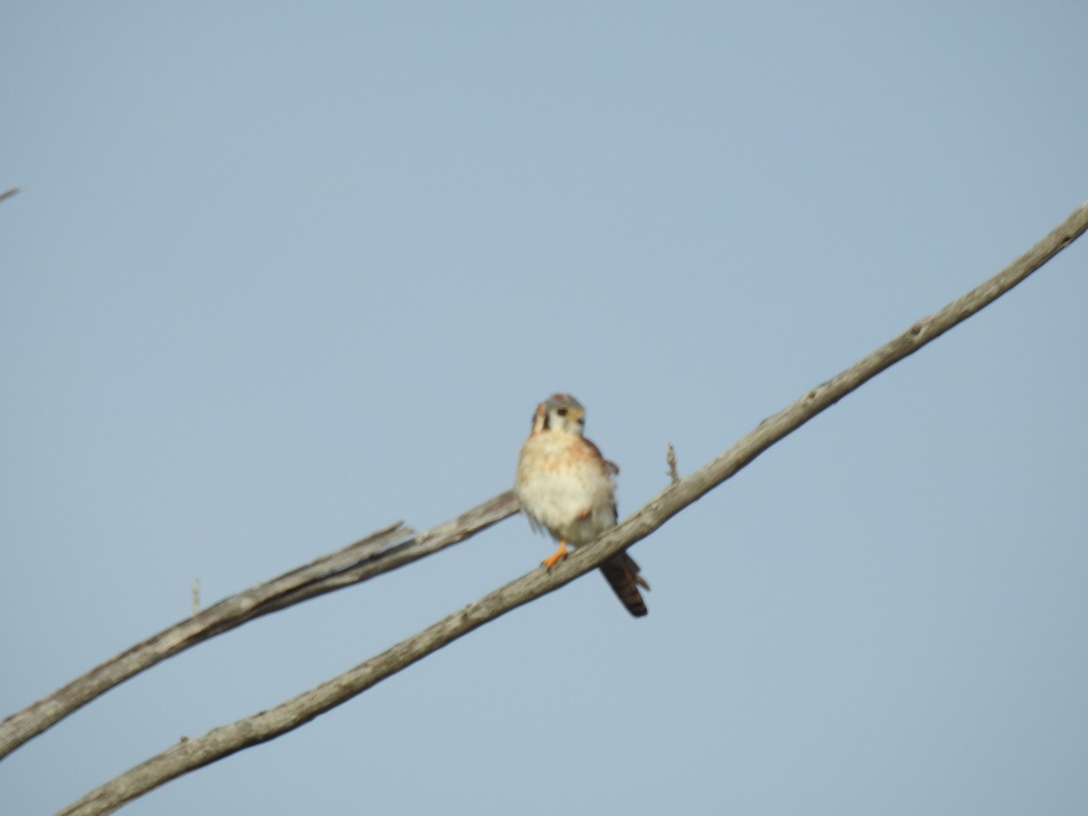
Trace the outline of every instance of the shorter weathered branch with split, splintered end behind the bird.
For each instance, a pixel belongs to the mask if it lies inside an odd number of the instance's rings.
[[[518,511],[510,491],[418,535],[400,522],[232,595],[137,643],[0,722],[0,759],[76,709],[168,657],[293,604],[437,553]]]

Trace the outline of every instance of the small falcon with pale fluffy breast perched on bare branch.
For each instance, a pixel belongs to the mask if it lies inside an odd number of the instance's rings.
[[[532,431],[521,446],[514,492],[533,529],[547,530],[559,542],[559,548],[544,559],[545,567],[566,557],[568,545],[589,544],[616,527],[613,475],[619,468],[582,436],[584,424],[581,404],[569,394],[554,394],[536,406]],[[639,588],[650,589],[639,571],[627,553],[601,566],[605,580],[636,618],[646,614]]]

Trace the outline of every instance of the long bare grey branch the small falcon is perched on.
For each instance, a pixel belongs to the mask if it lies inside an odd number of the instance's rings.
[[[658,529],[684,507],[721,484],[761,453],[846,394],[996,300],[1068,246],[1086,228],[1088,205],[1075,210],[1056,230],[998,275],[939,312],[917,321],[903,334],[813,388],[779,413],[765,419],[721,456],[666,487],[619,527],[601,536],[594,544],[579,548],[553,569],[536,569],[354,669],[274,708],[220,726],[203,737],[184,740],[91,791],[62,813],[86,816],[111,812],[183,774],[298,728],[477,627],[599,567],[608,558]]]

